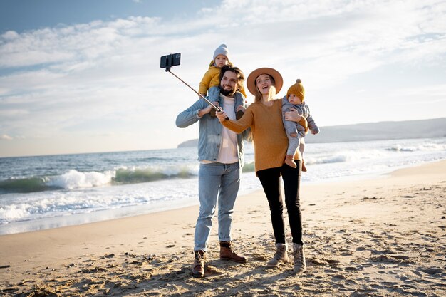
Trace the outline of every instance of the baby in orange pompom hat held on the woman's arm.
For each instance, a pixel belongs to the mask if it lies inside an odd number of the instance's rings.
[[[311,134],[318,134],[319,132],[318,126],[316,123],[314,123],[313,117],[310,115],[310,108],[308,108],[308,105],[304,103],[304,98],[304,86],[302,85],[301,80],[298,78],[296,83],[291,85],[286,92],[286,96],[282,99],[282,113],[289,111],[290,108],[294,108],[297,110],[299,115],[302,116],[299,123],[292,122],[291,120],[285,120],[285,117],[283,117],[286,136],[289,140],[285,164],[293,168],[297,167],[296,162],[294,162],[294,154],[299,147],[302,155],[302,171],[306,171],[304,163],[305,134],[308,132],[308,128],[311,131]]]

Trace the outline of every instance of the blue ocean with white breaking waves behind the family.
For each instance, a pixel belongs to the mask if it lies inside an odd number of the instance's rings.
[[[307,143],[302,184],[446,159],[446,138]],[[261,189],[247,145],[239,194]],[[0,158],[0,235],[198,204],[197,148]]]

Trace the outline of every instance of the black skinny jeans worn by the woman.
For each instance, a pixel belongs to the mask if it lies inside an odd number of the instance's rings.
[[[273,224],[276,244],[284,244],[285,224],[284,224],[284,202],[281,197],[280,176],[284,179],[285,205],[288,211],[289,225],[293,243],[304,244],[302,241],[302,218],[301,205],[299,202],[299,185],[301,184],[301,161],[296,160],[297,168],[288,165],[282,167],[259,170],[259,177],[271,211],[271,222]]]

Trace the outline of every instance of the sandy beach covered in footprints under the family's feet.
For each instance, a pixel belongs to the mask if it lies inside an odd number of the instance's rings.
[[[0,296],[445,296],[445,196],[446,160],[302,185],[308,269],[298,276],[292,264],[265,268],[274,237],[261,190],[238,197],[234,213],[247,264],[219,260],[214,219],[205,278],[190,273],[197,206],[7,234]]]

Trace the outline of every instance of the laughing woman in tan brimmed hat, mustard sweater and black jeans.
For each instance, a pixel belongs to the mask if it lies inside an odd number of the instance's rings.
[[[251,127],[254,140],[254,161],[256,176],[269,202],[271,221],[276,239],[276,253],[267,267],[276,267],[289,261],[285,240],[285,224],[283,217],[284,204],[280,191],[280,176],[284,180],[285,205],[288,211],[291,235],[294,248],[294,272],[306,270],[304,242],[302,241],[302,221],[299,204],[299,184],[301,181],[301,155],[297,150],[294,160],[297,167],[284,164],[288,138],[284,130],[281,113],[281,99],[274,99],[283,84],[280,73],[272,68],[259,68],[252,71],[247,79],[247,87],[255,96],[254,103],[249,105],[239,120],[225,120],[226,113],[219,112],[217,117],[222,125],[240,133]],[[286,120],[299,122],[301,116],[297,112],[285,114]]]

